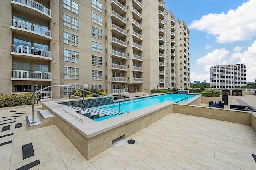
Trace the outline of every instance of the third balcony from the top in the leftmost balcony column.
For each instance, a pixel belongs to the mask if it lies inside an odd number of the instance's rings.
[[[13,45],[11,54],[22,58],[36,57],[39,60],[52,60],[51,51],[46,51],[44,49],[27,47],[23,45]]]

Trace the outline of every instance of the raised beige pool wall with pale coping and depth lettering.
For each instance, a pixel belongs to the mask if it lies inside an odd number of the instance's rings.
[[[77,100],[77,99],[76,99]],[[163,102],[96,122],[63,107],[58,101],[43,102],[42,109],[55,115],[55,125],[89,160],[112,146],[112,140],[127,138],[173,112],[174,102]]]

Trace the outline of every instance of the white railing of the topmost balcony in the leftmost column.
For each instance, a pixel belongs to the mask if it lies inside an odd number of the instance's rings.
[[[36,1],[33,1],[33,0],[11,0],[11,2],[17,2],[19,4],[27,6],[28,8],[37,10],[37,11],[47,15],[48,17],[52,18],[51,10]]]

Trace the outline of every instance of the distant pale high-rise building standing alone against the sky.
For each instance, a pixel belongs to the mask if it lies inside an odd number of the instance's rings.
[[[212,66],[210,86],[227,89],[246,86],[246,66],[244,64]]]

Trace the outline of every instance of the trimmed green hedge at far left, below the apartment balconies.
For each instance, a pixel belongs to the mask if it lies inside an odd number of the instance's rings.
[[[36,95],[34,95],[36,102]],[[0,95],[0,107],[32,105],[32,94]]]

